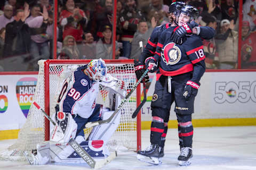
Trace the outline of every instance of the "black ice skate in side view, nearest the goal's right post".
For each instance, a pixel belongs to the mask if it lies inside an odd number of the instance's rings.
[[[151,144],[146,150],[139,150],[137,159],[153,165],[161,164],[162,158],[160,158],[159,146],[156,144]]]

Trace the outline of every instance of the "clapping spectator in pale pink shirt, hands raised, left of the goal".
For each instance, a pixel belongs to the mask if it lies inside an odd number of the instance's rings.
[[[39,8],[38,8],[39,9]],[[30,53],[33,57],[33,65],[37,71],[38,60],[47,60],[50,58],[49,40],[53,38],[53,15],[48,13],[46,6],[43,7],[42,16],[36,16],[34,19],[27,22],[31,33]],[[58,33],[57,33],[58,35]]]

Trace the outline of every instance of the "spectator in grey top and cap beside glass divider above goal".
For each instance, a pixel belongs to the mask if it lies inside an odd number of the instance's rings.
[[[105,25],[103,28],[101,28],[102,30],[102,35],[103,38],[101,38],[96,45],[96,55],[98,58],[102,58],[102,59],[112,59],[112,29],[110,25]],[[120,50],[118,48],[117,45],[117,41],[116,43],[116,56],[119,56],[120,54]]]

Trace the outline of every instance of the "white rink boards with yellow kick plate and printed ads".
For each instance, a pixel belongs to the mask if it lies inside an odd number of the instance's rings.
[[[147,102],[141,110],[142,129],[151,123],[150,101],[156,76],[150,73]],[[0,74],[0,140],[15,139],[26,121],[37,82],[36,72]],[[141,89],[142,91],[142,89]],[[142,98],[143,99],[143,95]],[[256,78],[254,71],[206,72],[195,99],[193,125],[256,125]],[[169,128],[176,128],[174,104]]]

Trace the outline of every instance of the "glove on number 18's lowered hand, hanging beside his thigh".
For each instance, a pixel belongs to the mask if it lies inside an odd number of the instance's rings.
[[[198,85],[199,84],[199,85]],[[183,97],[188,100],[191,96],[196,96],[200,83],[195,83],[193,81],[187,81],[183,88]]]

